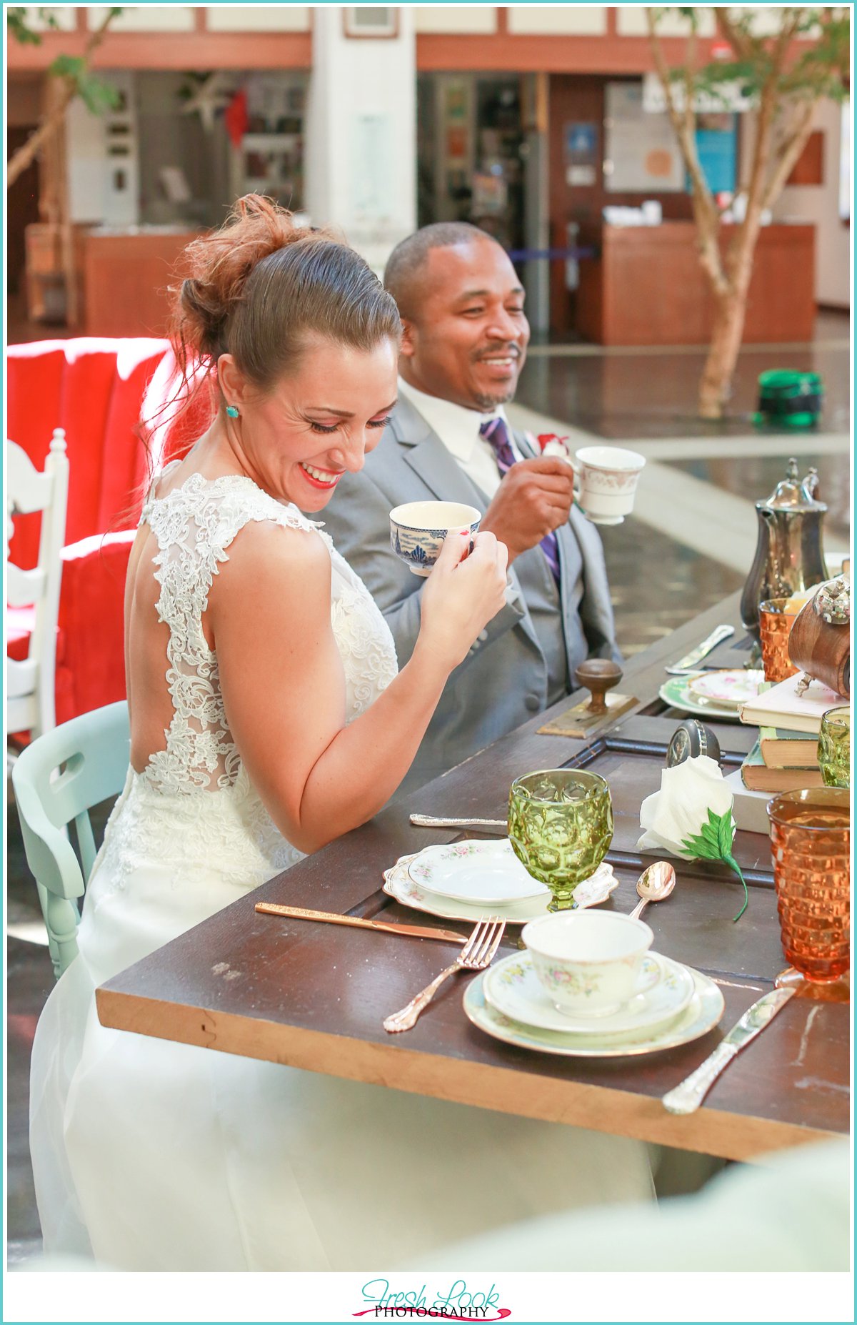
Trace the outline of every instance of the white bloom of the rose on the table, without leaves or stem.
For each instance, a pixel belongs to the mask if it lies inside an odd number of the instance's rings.
[[[654,791],[640,806],[640,827],[645,829],[637,848],[640,851],[665,849],[685,860],[694,860],[697,852],[682,843],[698,837],[709,822],[709,810],[715,815],[731,814],[732,792],[723,782],[719,765],[707,755],[685,759],[674,768],[661,772],[661,790]],[[734,825],[732,825],[734,832]]]

